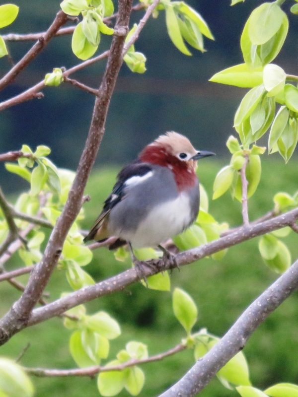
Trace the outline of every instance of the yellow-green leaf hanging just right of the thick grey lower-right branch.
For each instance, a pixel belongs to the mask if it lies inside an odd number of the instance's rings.
[[[228,383],[250,386],[249,370],[244,354],[240,351],[217,374]]]

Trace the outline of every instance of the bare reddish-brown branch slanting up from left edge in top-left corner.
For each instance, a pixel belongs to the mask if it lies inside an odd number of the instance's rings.
[[[34,46],[18,63],[1,78],[0,91],[10,84],[11,81],[13,81],[15,77],[45,48],[55,33],[67,22],[67,20],[68,16],[60,10],[46,33],[38,39],[37,43],[34,44]]]

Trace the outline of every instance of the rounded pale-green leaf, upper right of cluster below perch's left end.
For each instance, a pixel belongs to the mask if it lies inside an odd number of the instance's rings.
[[[107,339],[115,339],[121,334],[117,321],[105,312],[98,312],[86,318],[86,326]]]

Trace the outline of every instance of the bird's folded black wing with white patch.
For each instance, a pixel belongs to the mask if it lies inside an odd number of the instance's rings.
[[[124,167],[117,176],[118,181],[114,185],[112,193],[104,201],[103,209],[90,229],[84,242],[92,240],[98,229],[108,220],[108,215],[117,203],[125,198],[129,187],[136,185],[152,175],[152,168],[148,163],[141,163],[139,160]]]

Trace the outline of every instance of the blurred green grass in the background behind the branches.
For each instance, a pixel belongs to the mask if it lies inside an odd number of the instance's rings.
[[[265,158],[265,160],[267,160]],[[291,160],[285,166],[281,161],[263,161],[262,180],[256,194],[249,200],[251,219],[261,216],[273,208],[273,196],[278,191],[293,194],[298,189],[298,163]],[[200,180],[209,197],[216,173],[221,162],[204,160],[199,163]],[[86,219],[83,226],[90,227],[98,215],[103,200],[108,196],[115,182],[116,168],[101,168],[92,174],[86,193],[92,200],[85,204]],[[231,226],[241,223],[240,204],[232,201],[229,194],[210,202],[210,212],[219,221]],[[291,249],[293,259],[298,256],[297,235],[291,233],[283,239]],[[179,286],[196,301],[199,320],[194,330],[206,327],[211,333],[223,335],[242,311],[254,300],[277,275],[266,265],[257,250],[258,239],[242,243],[228,250],[224,259],[215,262],[204,259],[174,271],[171,277],[172,290]],[[10,261],[14,266],[17,261]],[[95,280],[102,280],[129,266],[114,259],[106,249],[94,252],[94,260],[86,267]],[[25,282],[26,276],[19,278]],[[70,291],[64,271],[56,270],[47,291],[51,300],[61,292]],[[0,284],[0,314],[3,315],[19,296],[9,284]],[[122,334],[111,342],[109,359],[125,346],[129,340],[148,344],[149,354],[165,351],[180,342],[184,332],[172,312],[171,293],[145,289],[135,284],[126,290],[96,299],[88,303],[87,310],[93,313],[106,310],[122,327]],[[253,334],[244,348],[253,386],[266,388],[277,382],[298,383],[297,294],[292,295]],[[68,350],[70,331],[60,319],[52,319],[16,334],[0,348],[0,355],[16,358],[22,348],[31,346],[21,360],[24,366],[46,368],[74,368],[74,361]],[[156,396],[179,379],[194,363],[193,353],[183,351],[162,362],[143,366],[146,383],[142,396]],[[87,378],[33,378],[36,396],[99,396],[95,379]],[[201,393],[203,397],[237,396],[215,379]],[[128,396],[123,391],[120,396]]]

